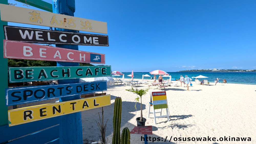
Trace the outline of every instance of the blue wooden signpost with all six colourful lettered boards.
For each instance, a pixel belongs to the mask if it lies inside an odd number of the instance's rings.
[[[47,4],[47,6],[45,6],[45,3],[42,3],[40,6],[37,5],[40,3],[40,0],[29,0],[25,2],[51,12],[51,8],[49,8],[50,4]],[[5,27],[6,39],[12,37],[14,38],[12,40],[16,41],[11,41],[10,39],[4,40],[4,58],[57,61],[57,66],[59,66],[49,68],[10,68],[9,78],[12,82],[59,80],[59,84],[45,87],[7,89],[6,104],[15,105],[51,99],[53,97],[60,98],[59,103],[8,110],[8,124],[9,126],[15,126],[60,116],[58,120],[59,128],[56,127],[59,130],[59,138],[57,138],[59,139],[59,143],[82,143],[81,111],[111,104],[110,95],[79,99],[79,94],[88,93],[89,91],[95,92],[99,89],[102,91],[104,85],[102,87],[99,84],[97,85],[99,82],[95,82],[95,85],[93,85],[94,82],[77,84],[79,82],[78,78],[110,76],[111,67],[77,67],[79,66],[79,62],[105,64],[104,54],[79,51],[77,45],[108,46],[108,36],[77,33],[77,30],[82,30],[107,34],[107,24],[101,21],[74,17],[74,6],[74,0],[55,0],[52,5],[54,13],[49,13],[0,4],[2,21],[55,27],[55,30],[69,31],[60,33],[59,31],[53,32],[50,30],[29,28],[14,30],[12,29],[14,27],[7,26],[12,31],[10,32]],[[1,27],[2,25],[3,23],[1,23]],[[7,24],[5,23],[4,25]],[[20,40],[31,43],[52,42],[52,44],[56,44],[57,47],[61,48],[18,42]],[[7,69],[7,67],[3,67],[3,69]],[[40,125],[39,122],[37,124]],[[17,130],[20,131],[23,129],[20,128]],[[40,131],[41,134],[43,137],[46,136],[44,132]],[[19,138],[17,137],[17,139]],[[34,139],[38,139],[38,137]],[[57,139],[49,142],[58,143]]]

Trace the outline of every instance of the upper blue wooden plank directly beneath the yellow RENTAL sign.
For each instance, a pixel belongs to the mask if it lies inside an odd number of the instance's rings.
[[[43,120],[34,121],[31,123],[12,126],[12,127],[9,127],[9,125],[1,126],[0,127],[0,143],[57,125],[59,124],[59,121],[60,121],[59,118],[60,117],[53,117],[53,118],[43,119]],[[22,130],[22,132],[20,132],[20,130]]]

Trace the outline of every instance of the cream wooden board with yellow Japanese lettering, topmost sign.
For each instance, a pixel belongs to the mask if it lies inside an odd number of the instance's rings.
[[[91,19],[55,14],[41,10],[0,4],[1,20],[107,34],[107,23]]]

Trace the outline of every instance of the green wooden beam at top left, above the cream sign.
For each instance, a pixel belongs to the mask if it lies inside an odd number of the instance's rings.
[[[34,6],[34,7],[37,7],[37,8],[40,8],[40,9],[43,9],[43,10],[46,10],[46,11],[52,13],[52,4],[42,1],[42,0],[19,0],[17,2],[21,2],[24,4],[27,3],[30,6]]]

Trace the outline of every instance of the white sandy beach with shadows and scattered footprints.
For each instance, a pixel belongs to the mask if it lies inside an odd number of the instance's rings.
[[[152,81],[153,80],[149,80]],[[210,85],[196,85],[186,87],[168,86],[165,88],[168,100],[170,121],[167,118],[157,118],[154,123],[153,114],[147,118],[149,92],[142,98],[143,117],[147,119],[146,125],[153,126],[153,135],[151,137],[163,137],[163,141],[154,141],[166,143],[256,143],[256,85],[244,84],[223,84],[210,83]],[[148,84],[142,84],[138,88],[147,88]],[[107,94],[111,94],[111,105],[103,107],[105,121],[108,120],[106,128],[106,137],[108,143],[112,143],[113,134],[113,108],[115,97],[122,98],[122,121],[121,132],[124,127],[131,131],[137,126],[136,117],[140,117],[140,103],[137,103],[135,110],[134,99],[136,94],[125,91],[130,86],[108,85]],[[164,90],[164,89],[162,89]],[[151,89],[150,91],[158,91]],[[55,102],[56,99],[48,100],[48,103]],[[33,103],[33,105],[45,104],[46,101]],[[19,105],[19,107],[30,106],[31,104]],[[10,108],[10,107],[9,107]],[[98,112],[101,108],[86,110],[82,112],[83,139],[98,141],[100,130],[95,122],[99,121]],[[162,115],[165,114],[163,110]],[[159,115],[159,114],[157,114]],[[144,143],[141,136],[131,134],[131,143]],[[166,142],[164,142],[167,136]],[[174,137],[237,137],[240,141],[174,141]],[[241,137],[250,137],[251,141],[243,142]],[[162,140],[162,138],[161,138]],[[212,139],[211,139],[212,140]],[[151,143],[152,141],[149,141]]]

